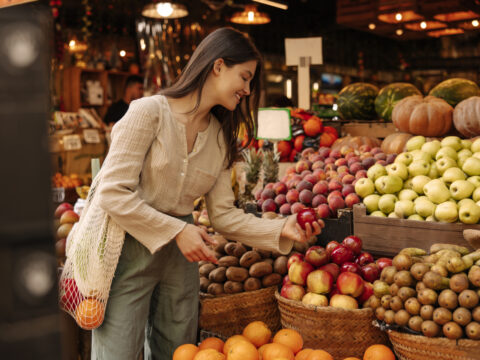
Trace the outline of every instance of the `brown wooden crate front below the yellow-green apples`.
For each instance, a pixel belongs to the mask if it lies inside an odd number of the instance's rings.
[[[428,251],[435,243],[471,248],[463,238],[464,229],[480,230],[480,225],[381,218],[367,215],[363,204],[353,207],[353,233],[362,239],[363,249],[374,256],[395,256],[406,247]]]

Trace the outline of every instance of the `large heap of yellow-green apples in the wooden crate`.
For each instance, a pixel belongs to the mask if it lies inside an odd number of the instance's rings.
[[[394,163],[375,164],[355,184],[372,216],[476,224],[480,219],[480,139],[427,142],[415,136]]]

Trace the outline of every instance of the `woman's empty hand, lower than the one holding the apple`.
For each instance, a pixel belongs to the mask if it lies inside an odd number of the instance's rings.
[[[212,245],[217,245],[217,242],[204,229],[187,224],[175,237],[175,241],[180,252],[188,261],[206,260],[217,264],[214,252],[205,245],[205,242]]]

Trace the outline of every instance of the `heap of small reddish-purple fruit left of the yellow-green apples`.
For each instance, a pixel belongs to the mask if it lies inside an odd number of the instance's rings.
[[[367,177],[374,164],[393,163],[395,154],[386,155],[379,147],[368,145],[358,150],[343,146],[340,150],[321,147],[302,152],[302,159],[276,183],[266,184],[255,193],[259,211],[296,214],[304,207],[314,208],[319,218],[336,215],[338,209],[352,208],[360,202],[355,193],[358,179]]]

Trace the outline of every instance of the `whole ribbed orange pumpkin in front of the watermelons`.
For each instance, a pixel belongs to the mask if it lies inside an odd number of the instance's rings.
[[[413,135],[442,136],[452,127],[453,108],[434,96],[408,96],[392,112],[398,130]]]

